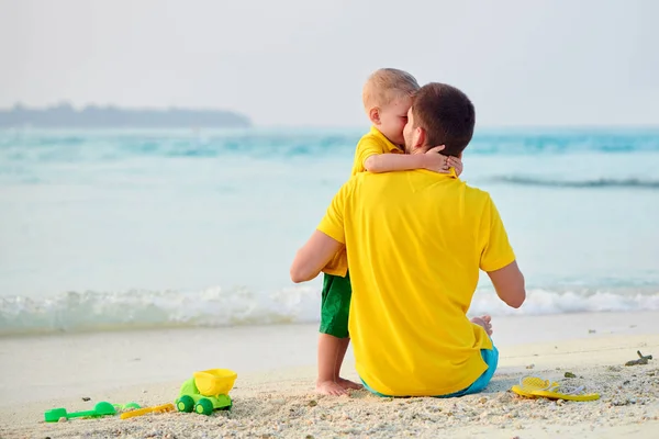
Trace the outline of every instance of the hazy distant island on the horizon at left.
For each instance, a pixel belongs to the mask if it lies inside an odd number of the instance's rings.
[[[69,103],[46,109],[15,104],[0,109],[0,127],[43,128],[226,128],[252,126],[243,114],[222,110],[137,110],[88,105],[76,110]]]

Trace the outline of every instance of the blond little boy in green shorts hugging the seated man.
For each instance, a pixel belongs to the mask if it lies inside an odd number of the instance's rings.
[[[405,155],[403,128],[407,123],[407,110],[420,89],[414,77],[405,71],[384,68],[373,72],[364,86],[364,109],[372,127],[355,151],[353,176],[358,172],[389,172],[411,169],[428,169],[456,176],[462,171],[462,162],[456,157],[437,154],[437,146],[426,154]],[[339,376],[348,344],[348,314],[350,308],[350,277],[345,250],[337,254],[323,269],[321,302],[321,335],[319,337],[319,378],[316,391],[327,395],[343,395],[348,389],[361,385]]]

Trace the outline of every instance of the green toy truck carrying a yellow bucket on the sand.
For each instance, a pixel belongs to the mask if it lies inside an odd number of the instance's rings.
[[[179,412],[194,410],[200,415],[211,415],[213,410],[231,410],[233,401],[228,392],[233,389],[237,373],[228,369],[210,369],[194,372],[187,380],[176,399]]]

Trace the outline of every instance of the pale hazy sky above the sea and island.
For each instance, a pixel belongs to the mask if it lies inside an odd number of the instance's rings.
[[[0,0],[0,106],[67,100],[361,126],[379,67],[481,126],[659,125],[659,1]]]

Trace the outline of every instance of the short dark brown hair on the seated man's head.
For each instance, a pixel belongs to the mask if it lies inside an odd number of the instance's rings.
[[[476,110],[460,90],[446,83],[423,86],[412,104],[414,127],[426,132],[425,146],[445,145],[445,156],[459,156],[473,135]]]

